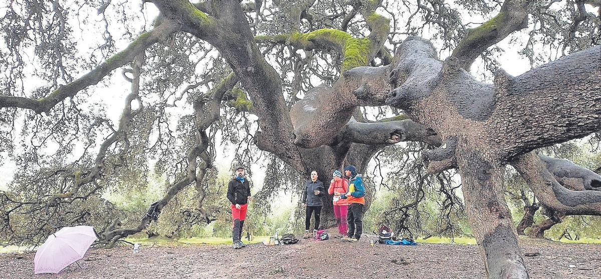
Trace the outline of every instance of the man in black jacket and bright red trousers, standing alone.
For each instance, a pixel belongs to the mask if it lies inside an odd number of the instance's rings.
[[[242,226],[246,219],[246,208],[252,200],[251,185],[244,176],[244,168],[236,168],[236,176],[231,179],[227,187],[227,199],[231,202],[231,218],[234,220],[232,230],[232,241],[234,249],[240,249],[246,245],[242,243]]]

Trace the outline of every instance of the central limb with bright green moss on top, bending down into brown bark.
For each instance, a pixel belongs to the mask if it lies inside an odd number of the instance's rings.
[[[303,121],[304,125],[294,125],[294,144],[312,148],[333,142],[340,133],[340,128],[349,121],[353,110],[359,104],[355,95],[350,93],[359,86],[364,86],[362,90],[388,91],[386,82],[381,82],[383,79],[369,79],[364,75],[364,71],[370,71],[370,68],[355,69],[367,65],[380,52],[390,31],[389,20],[375,11],[379,4],[379,1],[370,1],[361,4],[359,9],[371,31],[367,38],[353,38],[347,32],[336,29],[255,38],[258,41],[287,42],[302,49],[335,49],[343,55],[343,76],[334,84],[333,89],[320,87],[328,91],[329,94],[323,94],[328,98],[323,99],[322,106],[316,107],[317,111],[311,113],[311,118]],[[382,67],[373,74],[385,77],[388,74],[387,69]],[[372,84],[373,80],[379,83]],[[368,86],[373,88],[367,89]],[[294,106],[302,105],[297,103]]]

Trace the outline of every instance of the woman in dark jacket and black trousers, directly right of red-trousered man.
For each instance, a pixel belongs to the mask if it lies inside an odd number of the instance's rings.
[[[317,229],[319,228],[320,215],[322,214],[322,197],[325,194],[325,188],[323,183],[317,180],[317,171],[311,172],[311,179],[305,184],[305,191],[302,194],[302,204],[307,211],[305,212],[305,235],[303,238],[311,238],[315,236]],[[309,232],[309,226],[311,225],[311,215],[314,214],[315,226],[313,233]]]

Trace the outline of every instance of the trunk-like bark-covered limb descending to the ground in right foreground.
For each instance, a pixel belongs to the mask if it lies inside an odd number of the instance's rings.
[[[474,236],[481,246],[488,278],[529,278],[511,212],[505,203],[502,166],[483,153],[458,146],[457,164]]]

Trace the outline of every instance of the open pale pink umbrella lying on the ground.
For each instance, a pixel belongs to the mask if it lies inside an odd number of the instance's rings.
[[[81,260],[95,240],[96,233],[90,226],[64,227],[52,233],[35,253],[35,274],[60,272]]]

